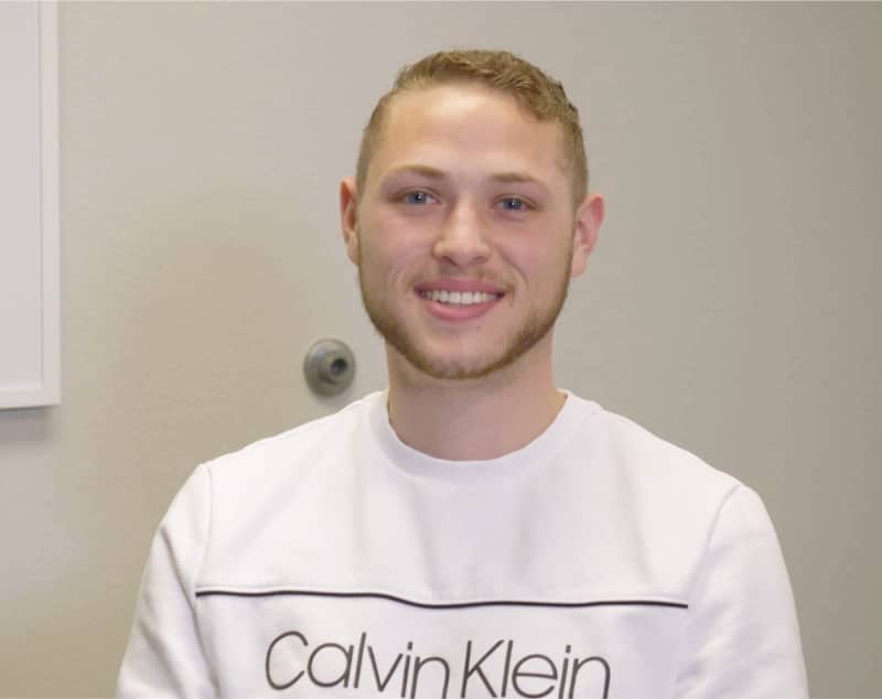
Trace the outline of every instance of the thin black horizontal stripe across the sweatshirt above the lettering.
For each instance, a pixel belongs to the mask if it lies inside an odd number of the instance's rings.
[[[417,602],[399,598],[385,592],[333,592],[316,590],[262,590],[243,591],[225,590],[223,588],[205,588],[196,591],[197,598],[207,596],[235,596],[235,598],[269,598],[269,596],[316,596],[337,599],[374,599],[407,604],[427,610],[461,610],[476,606],[548,606],[559,609],[578,609],[587,606],[668,606],[675,609],[689,609],[685,602],[665,602],[659,600],[594,600],[589,602],[546,602],[541,600],[482,600],[474,602]]]

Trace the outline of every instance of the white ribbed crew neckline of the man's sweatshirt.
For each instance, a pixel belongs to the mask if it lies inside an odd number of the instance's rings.
[[[533,465],[547,463],[570,441],[580,423],[598,406],[568,390],[560,390],[567,395],[567,400],[541,434],[516,451],[496,459],[477,461],[437,459],[405,444],[389,423],[386,408],[388,390],[370,394],[365,397],[365,401],[370,430],[396,469],[422,477],[472,481],[508,477]]]

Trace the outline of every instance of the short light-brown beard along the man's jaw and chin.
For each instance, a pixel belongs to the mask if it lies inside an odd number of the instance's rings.
[[[570,286],[569,262],[572,251],[563,258],[561,272],[557,279],[549,280],[553,294],[540,308],[530,309],[520,324],[501,342],[495,350],[484,356],[435,356],[416,336],[415,329],[408,327],[384,303],[383,294],[365,279],[362,265],[358,266],[358,284],[362,301],[374,327],[383,338],[419,372],[437,379],[475,379],[490,376],[513,365],[555,326]],[[492,311],[491,311],[492,312]],[[463,342],[465,348],[466,342]],[[463,355],[465,352],[463,352]]]

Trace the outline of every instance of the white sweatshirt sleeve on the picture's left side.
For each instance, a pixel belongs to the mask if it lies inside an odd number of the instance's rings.
[[[211,519],[208,469],[196,469],[153,538],[118,697],[214,697],[195,613],[196,574]]]

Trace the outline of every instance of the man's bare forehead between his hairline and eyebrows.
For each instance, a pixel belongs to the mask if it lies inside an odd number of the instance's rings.
[[[562,142],[559,123],[540,121],[512,95],[473,83],[437,85],[390,100],[372,170],[381,176],[401,160],[416,160],[444,170],[473,165],[566,176]]]

